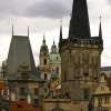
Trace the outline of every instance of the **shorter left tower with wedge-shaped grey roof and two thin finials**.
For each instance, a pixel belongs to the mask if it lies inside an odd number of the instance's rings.
[[[29,34],[13,36],[13,28],[7,60],[7,81],[10,101],[22,100],[36,105],[41,103],[43,81],[36,69]]]

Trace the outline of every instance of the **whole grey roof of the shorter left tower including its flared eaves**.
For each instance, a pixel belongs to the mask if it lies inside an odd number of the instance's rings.
[[[27,75],[36,81],[42,81],[36,69],[29,37],[13,36],[8,54],[8,79],[16,80],[20,67],[27,67]]]

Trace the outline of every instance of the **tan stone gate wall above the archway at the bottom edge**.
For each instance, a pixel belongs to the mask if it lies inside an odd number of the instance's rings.
[[[73,102],[70,99],[46,99],[43,111],[88,111],[88,102]]]

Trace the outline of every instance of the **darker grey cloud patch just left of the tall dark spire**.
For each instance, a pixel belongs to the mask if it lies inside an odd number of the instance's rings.
[[[71,10],[72,0],[42,0],[30,6],[26,12],[30,17],[63,18]]]

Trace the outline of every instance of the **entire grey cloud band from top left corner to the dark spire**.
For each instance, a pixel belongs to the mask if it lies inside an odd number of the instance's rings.
[[[62,18],[70,13],[72,0],[0,0],[0,18]]]

